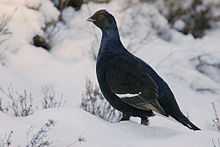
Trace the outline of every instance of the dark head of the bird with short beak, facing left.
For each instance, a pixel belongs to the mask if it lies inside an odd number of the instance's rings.
[[[93,22],[102,31],[114,30],[117,28],[115,18],[106,10],[102,9],[87,19]]]

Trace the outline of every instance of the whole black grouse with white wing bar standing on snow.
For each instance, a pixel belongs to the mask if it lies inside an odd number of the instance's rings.
[[[99,10],[88,21],[102,31],[96,74],[108,102],[123,112],[122,120],[140,117],[142,122],[153,111],[172,116],[192,130],[200,130],[181,112],[167,83],[144,61],[123,46],[116,20],[106,10]]]

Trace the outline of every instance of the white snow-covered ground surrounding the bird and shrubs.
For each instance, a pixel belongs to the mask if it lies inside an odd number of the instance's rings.
[[[80,108],[87,78],[96,82],[95,61],[101,32],[86,21],[98,9],[107,9],[118,20],[125,46],[168,82],[182,111],[202,131],[191,131],[172,119],[156,116],[150,125],[135,121],[110,123]],[[34,47],[32,37],[44,34],[45,24],[58,20],[59,11],[49,0],[1,0],[0,14],[9,16],[7,40],[0,44],[0,88],[31,93],[34,113],[15,117],[0,112],[1,140],[13,131],[12,147],[25,146],[48,120],[54,126],[48,138],[54,147],[214,147],[220,133],[213,126],[215,103],[220,115],[220,28],[202,39],[182,35],[149,4],[89,3],[80,11],[64,10],[64,22],[50,33],[51,52]],[[1,17],[3,19],[3,17]],[[1,39],[1,38],[0,38]],[[215,65],[215,66],[213,66]],[[59,108],[41,109],[43,90],[62,97]],[[15,93],[16,93],[15,92]],[[62,95],[62,96],[61,96]],[[3,106],[9,99],[2,91]],[[1,105],[0,105],[1,106]],[[31,133],[30,133],[31,132]],[[213,144],[214,142],[214,144]],[[5,146],[3,146],[5,147]]]

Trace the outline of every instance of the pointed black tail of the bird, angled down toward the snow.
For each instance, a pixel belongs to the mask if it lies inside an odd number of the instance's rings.
[[[181,124],[183,124],[184,126],[186,126],[189,129],[192,129],[194,131],[196,130],[201,130],[200,128],[198,128],[196,125],[194,125],[186,116],[184,116],[182,113],[179,115],[173,115],[172,116],[174,119],[176,119],[177,121],[179,121]]]

